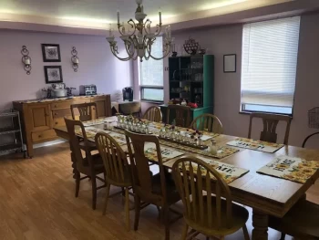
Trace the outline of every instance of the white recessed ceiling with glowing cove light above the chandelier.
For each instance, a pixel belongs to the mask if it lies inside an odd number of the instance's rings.
[[[144,0],[144,11],[154,23],[177,23],[218,16],[293,0]],[[0,21],[77,26],[94,29],[134,18],[135,0],[0,0]]]

